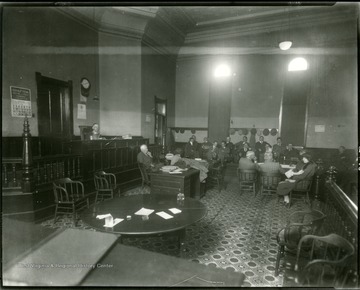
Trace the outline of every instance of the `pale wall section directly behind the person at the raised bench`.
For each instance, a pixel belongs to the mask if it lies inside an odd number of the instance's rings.
[[[99,34],[100,128],[103,135],[141,135],[141,43]]]

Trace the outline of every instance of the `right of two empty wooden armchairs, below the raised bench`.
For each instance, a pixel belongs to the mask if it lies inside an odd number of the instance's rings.
[[[116,183],[116,176],[112,173],[106,173],[104,171],[98,171],[94,173],[94,183],[96,189],[95,203],[98,200],[112,199],[114,198],[114,192],[119,191]]]

